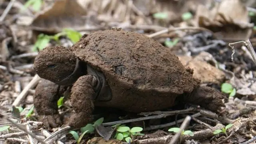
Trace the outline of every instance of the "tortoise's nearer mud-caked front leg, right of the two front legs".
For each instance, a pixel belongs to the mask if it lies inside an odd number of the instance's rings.
[[[81,128],[92,121],[93,94],[96,84],[97,79],[92,75],[81,76],[76,80],[70,97],[74,113],[69,118],[68,126]]]

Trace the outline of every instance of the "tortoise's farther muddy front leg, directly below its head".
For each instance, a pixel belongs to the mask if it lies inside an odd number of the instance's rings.
[[[34,106],[39,115],[39,121],[43,122],[47,128],[56,128],[62,125],[57,101],[65,91],[66,87],[58,86],[46,79],[42,79],[36,86],[33,98]]]

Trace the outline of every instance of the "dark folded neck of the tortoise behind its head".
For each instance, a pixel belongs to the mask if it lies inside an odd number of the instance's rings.
[[[58,84],[60,86],[71,86],[82,75],[83,75],[83,72],[81,69],[81,61],[77,58],[76,59],[76,67],[75,67],[74,71],[72,72],[72,74],[70,74],[66,78],[64,78],[58,82],[54,82],[54,83]]]

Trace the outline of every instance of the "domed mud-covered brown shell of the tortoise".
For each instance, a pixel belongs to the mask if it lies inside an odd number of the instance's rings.
[[[72,46],[80,60],[93,66],[108,81],[127,84],[143,92],[191,92],[199,84],[193,70],[184,68],[169,48],[156,40],[120,29],[84,35]],[[118,86],[118,83],[116,83]]]

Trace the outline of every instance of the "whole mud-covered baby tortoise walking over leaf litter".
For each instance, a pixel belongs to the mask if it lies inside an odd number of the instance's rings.
[[[69,86],[74,113],[68,125],[75,128],[92,120],[94,106],[136,113],[169,108],[177,100],[214,112],[225,106],[224,95],[199,86],[193,70],[186,69],[169,48],[117,28],[85,34],[71,48],[44,48],[34,69],[43,78],[34,105],[50,127],[62,124],[57,101]]]

